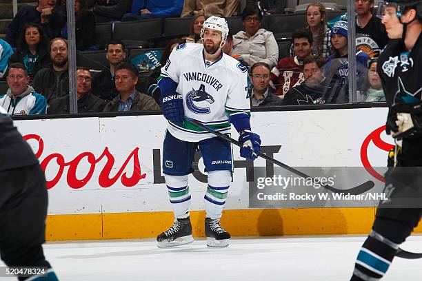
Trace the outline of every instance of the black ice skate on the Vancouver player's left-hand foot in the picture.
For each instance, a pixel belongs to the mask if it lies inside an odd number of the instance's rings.
[[[190,218],[178,218],[170,229],[157,236],[159,248],[168,248],[194,242]]]

